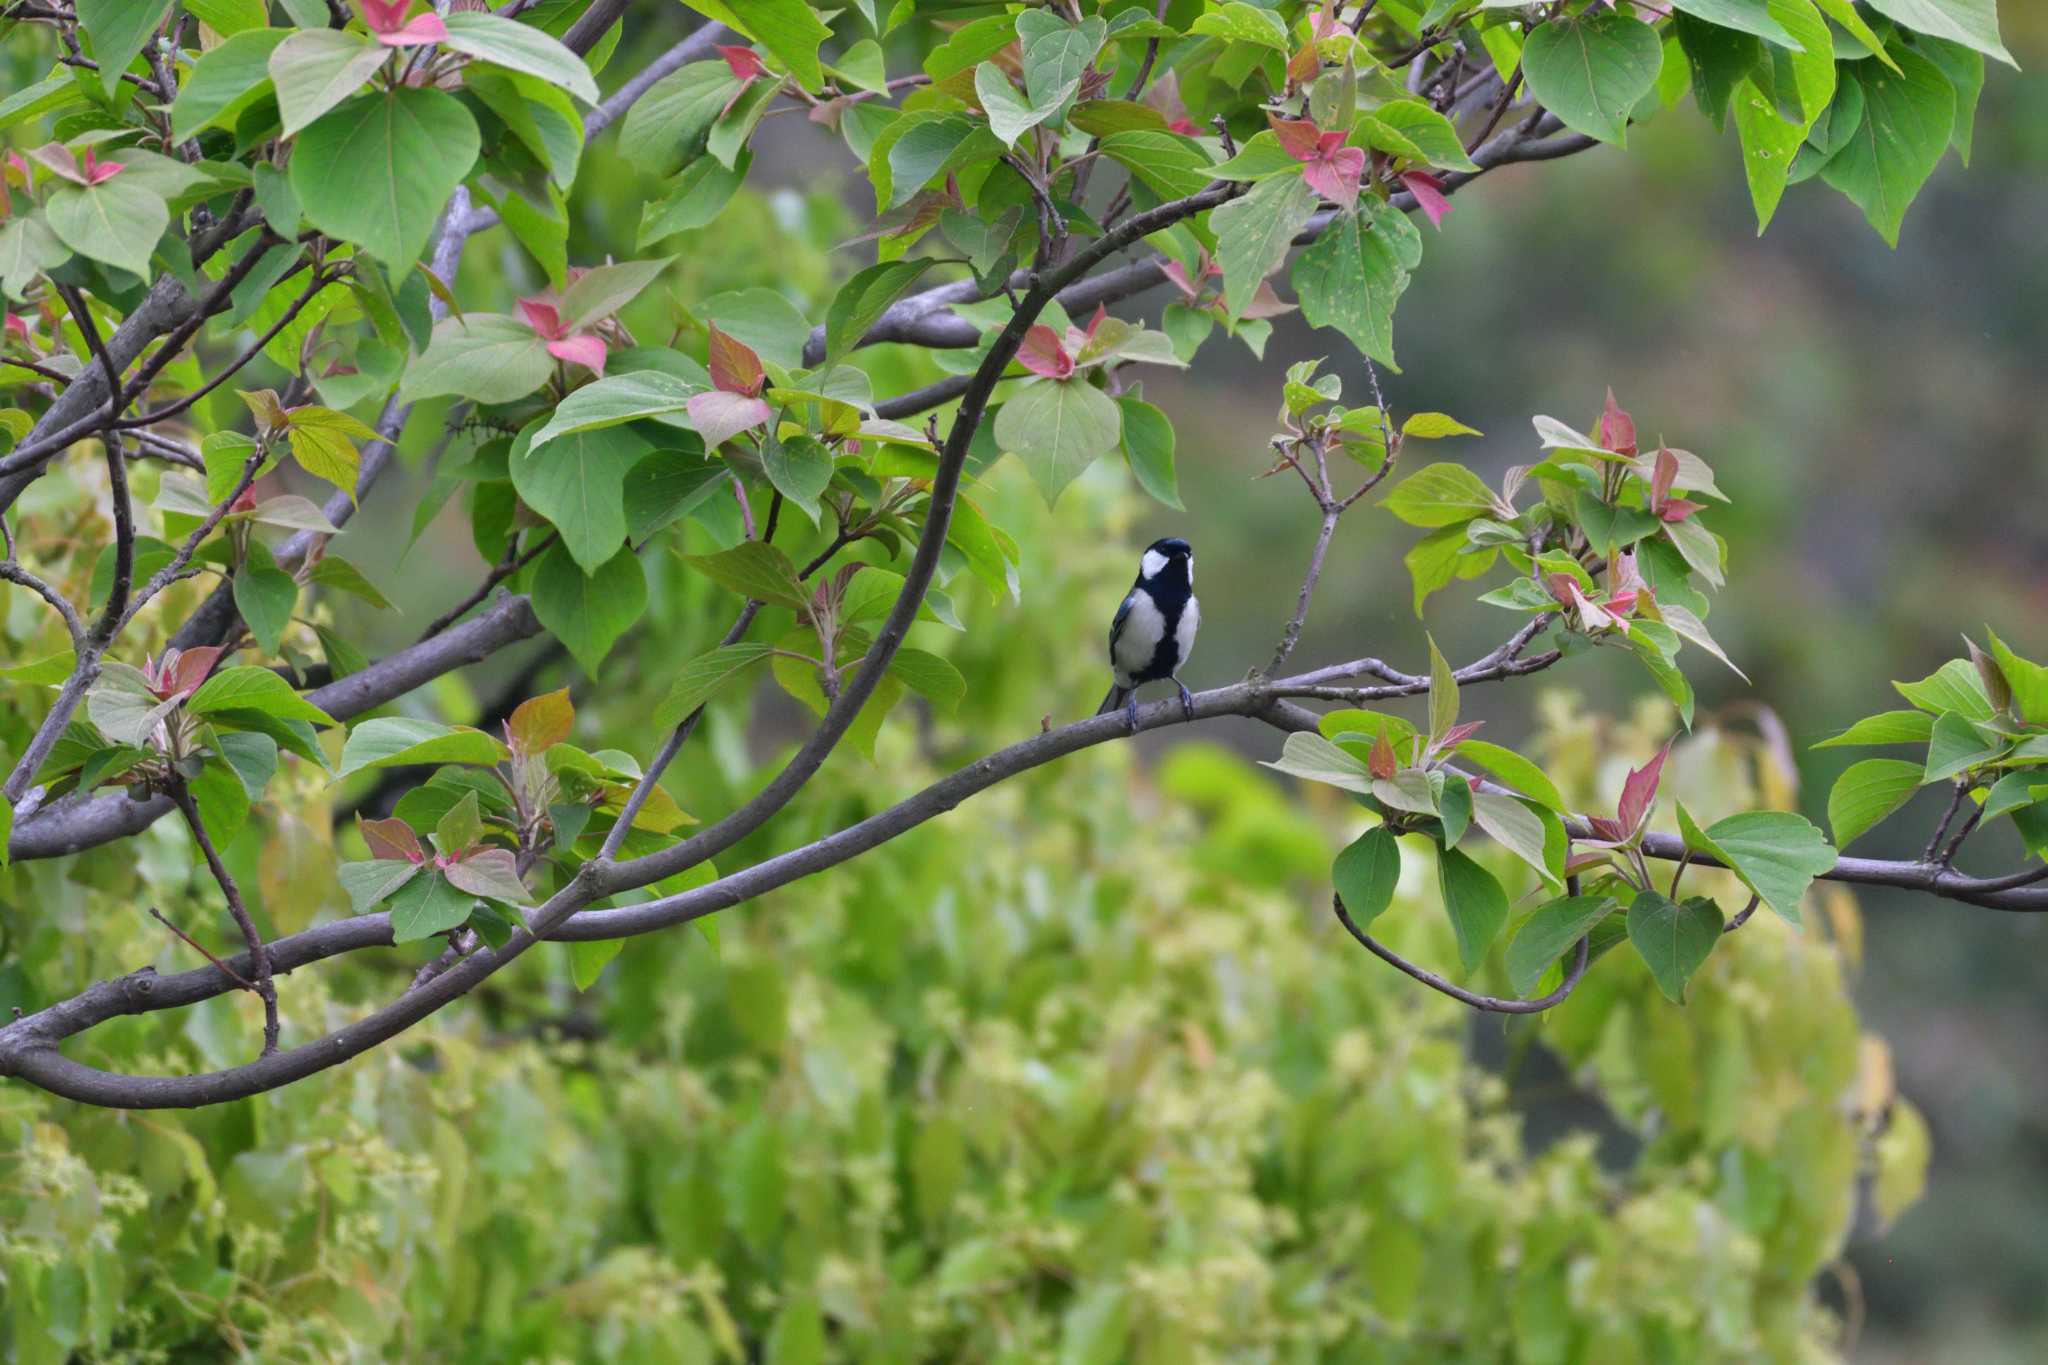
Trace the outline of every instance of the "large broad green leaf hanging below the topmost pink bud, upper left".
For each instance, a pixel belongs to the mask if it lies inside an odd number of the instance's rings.
[[[479,145],[477,121],[451,94],[360,94],[299,133],[291,188],[313,227],[403,270],[420,260]]]

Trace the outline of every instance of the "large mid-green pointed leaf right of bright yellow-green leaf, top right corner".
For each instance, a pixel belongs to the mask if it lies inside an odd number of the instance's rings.
[[[1942,68],[1911,47],[1892,51],[1898,72],[1843,63],[1841,82],[1864,94],[1864,121],[1829,158],[1821,178],[1864,211],[1886,246],[1898,246],[1907,205],[1933,174],[1956,127],[1956,90]]]

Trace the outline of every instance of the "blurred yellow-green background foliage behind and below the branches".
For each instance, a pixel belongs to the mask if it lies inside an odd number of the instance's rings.
[[[987,493],[1028,528],[1024,602],[956,636],[961,716],[891,722],[874,767],[827,769],[819,823],[1092,681],[1067,643],[1106,612],[1122,503],[1063,503],[1104,546],[1077,551],[1020,473]],[[694,628],[659,600],[637,673]],[[578,739],[631,743],[635,700],[625,681]],[[1573,800],[1612,800],[1667,726],[1661,706],[1612,726],[1559,696],[1540,751]],[[754,772],[737,720],[715,729],[684,804]],[[1718,812],[1767,772],[1708,737],[1673,782]],[[403,1046],[260,1101],[115,1113],[8,1089],[12,1359],[1829,1359],[1812,1281],[1886,1150],[1845,945],[1759,919],[1686,1009],[1604,958],[1507,1042],[1552,1050],[1628,1154],[1591,1130],[1532,1140],[1468,1013],[1315,911],[1354,825],[1214,745],[1149,776],[1098,749],[707,933],[627,943],[590,993],[567,948],[543,952]],[[289,814],[262,808],[231,857],[272,919],[342,909],[328,837]],[[137,907],[209,913],[190,864],[160,825],[0,874],[37,907],[10,921],[10,995],[184,966]],[[1425,868],[1380,923],[1450,960]],[[424,950],[377,958],[289,978],[289,1025],[344,1021]],[[213,1066],[256,1025],[231,995],[78,1052]],[[1913,1152],[1882,1166],[1913,1179]]]

